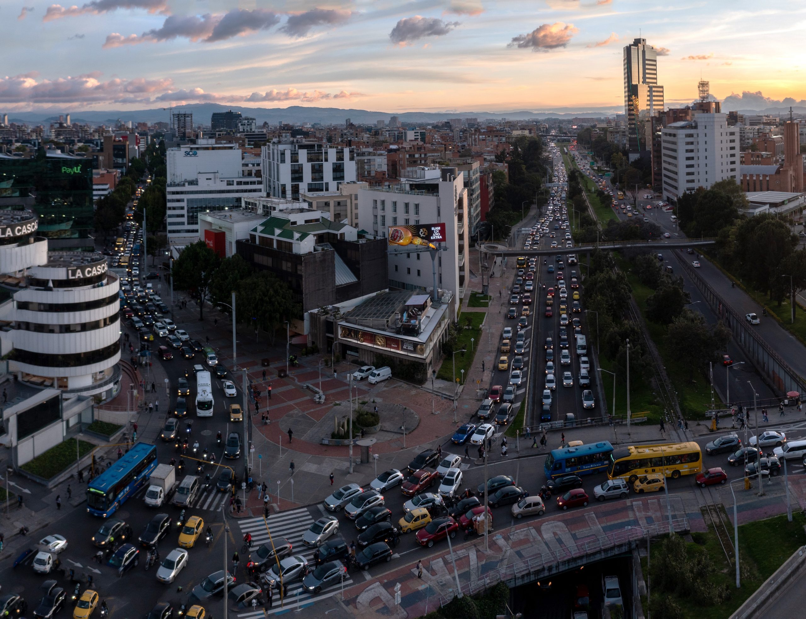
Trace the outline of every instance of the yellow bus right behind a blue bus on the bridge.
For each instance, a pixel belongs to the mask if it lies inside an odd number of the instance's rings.
[[[696,443],[630,445],[613,449],[607,474],[610,479],[621,477],[632,484],[649,473],[663,473],[664,477],[674,479],[696,475],[702,464],[702,452]]]

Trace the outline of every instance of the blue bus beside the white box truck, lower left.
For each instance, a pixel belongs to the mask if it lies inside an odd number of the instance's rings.
[[[156,445],[135,444],[87,485],[89,514],[103,518],[114,514],[151,477],[156,465]]]

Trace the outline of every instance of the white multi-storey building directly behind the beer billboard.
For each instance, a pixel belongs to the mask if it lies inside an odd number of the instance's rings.
[[[469,229],[467,189],[459,170],[412,167],[401,184],[360,189],[359,202],[359,229],[380,237],[388,237],[390,225],[444,223],[447,241],[439,244],[437,287],[464,296]],[[430,290],[434,281],[430,253],[406,249],[389,247],[389,286]]]

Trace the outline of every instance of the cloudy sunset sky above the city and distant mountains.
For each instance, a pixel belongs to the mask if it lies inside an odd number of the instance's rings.
[[[806,2],[0,0],[0,112],[618,109],[638,36],[667,105],[700,76],[739,108],[806,105],[804,31]]]

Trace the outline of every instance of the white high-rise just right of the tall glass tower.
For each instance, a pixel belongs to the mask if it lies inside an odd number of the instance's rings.
[[[724,113],[698,113],[692,121],[663,127],[663,197],[677,200],[683,192],[708,189],[739,178],[739,132]]]

